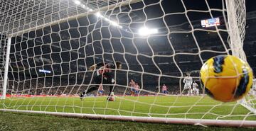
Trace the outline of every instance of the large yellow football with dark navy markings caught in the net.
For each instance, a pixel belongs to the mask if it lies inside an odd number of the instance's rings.
[[[203,89],[218,101],[237,101],[252,87],[252,69],[247,62],[232,55],[208,59],[200,71]]]

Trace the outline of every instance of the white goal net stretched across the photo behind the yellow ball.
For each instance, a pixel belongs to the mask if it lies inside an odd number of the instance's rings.
[[[0,4],[0,110],[162,123],[256,126],[255,95],[221,103],[199,71],[216,55],[246,60],[245,1],[13,0]],[[95,90],[114,69],[114,101]],[[190,74],[198,89],[188,92]],[[134,80],[139,88],[131,86]],[[166,91],[163,91],[163,85]]]

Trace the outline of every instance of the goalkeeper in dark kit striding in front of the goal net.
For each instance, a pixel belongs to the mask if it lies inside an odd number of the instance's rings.
[[[97,67],[100,67],[100,68],[97,69]],[[91,86],[91,87],[89,86],[87,90],[80,93],[79,95],[80,99],[82,100],[82,98],[86,95],[86,93],[90,93],[92,91],[98,90],[100,84],[110,84],[110,93],[108,96],[114,95],[114,86],[113,86],[114,70],[122,69],[121,62],[117,61],[115,62],[115,64],[112,62],[105,62],[105,63],[100,62],[92,65],[89,69],[90,71],[94,71],[95,69],[97,69],[93,76],[96,86]]]

